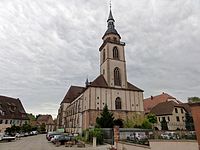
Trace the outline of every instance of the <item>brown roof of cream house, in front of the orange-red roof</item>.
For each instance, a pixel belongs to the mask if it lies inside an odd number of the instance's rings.
[[[155,107],[151,109],[150,112],[154,113],[157,116],[171,115],[174,110],[174,107],[184,108],[181,104],[178,104],[174,101],[167,101],[157,104]]]

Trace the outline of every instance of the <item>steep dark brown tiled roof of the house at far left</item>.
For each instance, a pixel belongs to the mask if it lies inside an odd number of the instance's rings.
[[[0,96],[0,118],[29,120],[19,99]]]

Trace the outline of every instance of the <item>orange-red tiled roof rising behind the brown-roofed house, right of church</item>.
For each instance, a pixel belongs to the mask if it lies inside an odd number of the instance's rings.
[[[173,96],[171,96],[167,93],[164,93],[164,92],[160,95],[151,96],[149,98],[146,98],[146,99],[144,99],[144,111],[145,111],[145,113],[148,113],[157,104],[166,102],[169,100],[177,101],[176,98],[174,98]]]

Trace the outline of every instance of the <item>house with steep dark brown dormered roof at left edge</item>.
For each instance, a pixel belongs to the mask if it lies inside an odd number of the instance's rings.
[[[22,126],[28,122],[29,118],[19,99],[0,96],[0,132],[12,125]]]

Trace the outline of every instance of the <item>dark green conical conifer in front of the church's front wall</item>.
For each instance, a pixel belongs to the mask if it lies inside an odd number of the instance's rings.
[[[103,112],[100,117],[96,118],[97,127],[100,128],[112,128],[114,125],[113,113],[109,112],[107,104],[103,108]]]

